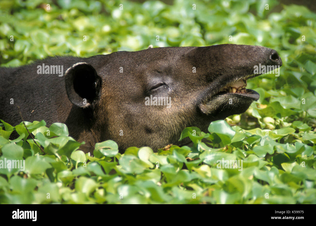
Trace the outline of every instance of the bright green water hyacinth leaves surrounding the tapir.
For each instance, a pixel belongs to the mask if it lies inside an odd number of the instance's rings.
[[[25,170],[0,163],[0,203],[316,204],[315,13],[272,0],[194,1],[195,10],[177,0],[55,2],[47,1],[50,9],[40,0],[0,2],[1,66],[150,44],[222,43],[276,49],[283,66],[280,76],[248,81],[260,99],[246,113],[212,122],[206,134],[186,128],[180,139],[189,136],[192,147],[158,153],[131,147],[119,154],[115,142],[104,141],[92,157],[64,124],[25,122],[33,140],[22,122],[1,121],[0,160],[23,159]],[[13,131],[20,136],[9,140]],[[223,158],[242,160],[242,168],[240,161],[235,168],[219,164]]]

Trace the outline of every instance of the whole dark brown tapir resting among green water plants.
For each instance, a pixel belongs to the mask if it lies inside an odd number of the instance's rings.
[[[24,121],[65,123],[92,150],[107,139],[120,152],[184,145],[185,127],[207,131],[259,99],[246,88],[259,64],[280,67],[282,60],[273,49],[235,44],[49,57],[0,69],[0,119],[19,124],[19,106]]]

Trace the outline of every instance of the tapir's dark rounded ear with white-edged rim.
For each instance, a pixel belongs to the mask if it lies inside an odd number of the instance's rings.
[[[98,98],[101,82],[94,67],[84,62],[74,64],[65,72],[68,98],[78,107],[88,107]]]

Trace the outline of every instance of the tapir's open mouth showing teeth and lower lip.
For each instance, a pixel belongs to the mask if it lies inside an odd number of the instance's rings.
[[[247,80],[246,79],[240,79],[237,82],[229,83],[226,86],[222,87],[220,89],[220,92],[217,93],[217,95],[225,95],[225,94],[234,94],[234,95],[240,95],[244,97],[248,97],[253,100],[258,100],[260,95],[256,91],[252,89],[246,89],[247,86]]]

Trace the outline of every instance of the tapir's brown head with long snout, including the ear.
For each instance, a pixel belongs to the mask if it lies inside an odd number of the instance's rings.
[[[185,127],[206,130],[211,121],[246,111],[259,99],[246,89],[259,65],[265,73],[282,60],[260,46],[151,48],[88,58],[70,67],[65,81],[70,101],[91,113],[97,142],[156,150],[187,142],[178,141]]]

